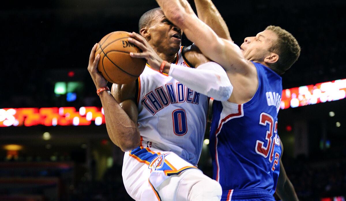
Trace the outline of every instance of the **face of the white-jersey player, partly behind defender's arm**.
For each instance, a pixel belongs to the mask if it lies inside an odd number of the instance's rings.
[[[171,48],[177,52],[181,46],[182,30],[172,24],[163,14],[157,11],[148,28],[150,43],[156,48]]]

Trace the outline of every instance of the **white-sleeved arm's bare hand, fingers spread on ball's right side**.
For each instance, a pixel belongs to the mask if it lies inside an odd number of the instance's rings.
[[[131,52],[130,56],[133,58],[144,58],[152,68],[160,69],[163,60],[156,54],[145,38],[135,32],[132,32],[129,35],[131,38],[128,38],[128,41],[135,44],[143,51],[139,53]]]

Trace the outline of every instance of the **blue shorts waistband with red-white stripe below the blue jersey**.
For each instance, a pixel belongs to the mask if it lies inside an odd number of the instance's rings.
[[[231,199],[256,199],[268,198],[274,200],[273,194],[264,189],[230,189],[222,191],[222,198]]]

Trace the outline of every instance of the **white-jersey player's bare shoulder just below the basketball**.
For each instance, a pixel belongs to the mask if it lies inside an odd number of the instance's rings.
[[[111,93],[117,102],[133,100],[136,102],[137,84],[136,80],[129,84],[112,84]]]

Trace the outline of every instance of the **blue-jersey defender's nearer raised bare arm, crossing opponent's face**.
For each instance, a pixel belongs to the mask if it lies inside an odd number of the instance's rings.
[[[232,41],[222,39],[191,9],[186,0],[156,0],[165,16],[180,27],[186,37],[194,42],[201,52],[219,63],[225,70],[247,74],[252,63],[246,60],[240,48]]]

